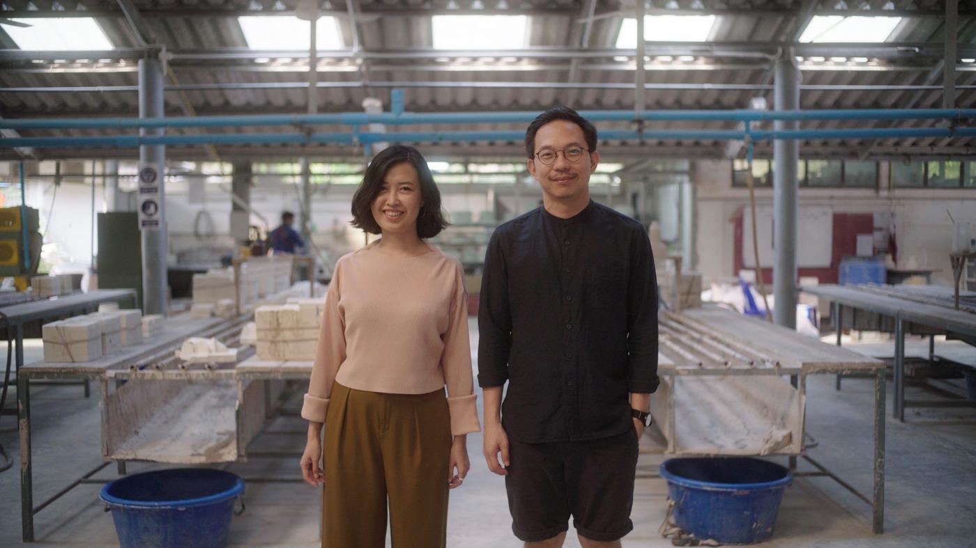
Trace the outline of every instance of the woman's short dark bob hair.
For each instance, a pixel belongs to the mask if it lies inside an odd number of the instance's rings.
[[[380,234],[380,225],[373,218],[373,201],[380,193],[383,179],[390,168],[406,162],[417,170],[417,178],[421,183],[421,198],[424,206],[417,216],[417,235],[421,238],[433,238],[443,230],[448,222],[444,212],[440,209],[440,191],[430,175],[427,160],[413,146],[394,144],[373,157],[362,183],[352,196],[352,226],[361,228],[370,234]]]

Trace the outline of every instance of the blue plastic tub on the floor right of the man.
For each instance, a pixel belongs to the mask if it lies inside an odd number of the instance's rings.
[[[661,464],[674,501],[674,524],[701,540],[752,544],[768,540],[790,470],[758,458],[671,458]]]

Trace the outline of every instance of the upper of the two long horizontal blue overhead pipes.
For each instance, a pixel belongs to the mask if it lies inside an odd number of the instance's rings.
[[[397,108],[399,108],[397,106]],[[941,120],[976,118],[972,108],[922,109],[848,109],[848,110],[589,110],[580,114],[592,122],[646,121],[732,121],[760,120]],[[138,129],[138,128],[212,128],[252,126],[305,126],[364,124],[481,124],[528,123],[539,112],[344,112],[338,114],[271,114],[245,116],[198,116],[182,118],[75,118],[75,119],[0,119],[0,129],[69,130],[69,129]]]

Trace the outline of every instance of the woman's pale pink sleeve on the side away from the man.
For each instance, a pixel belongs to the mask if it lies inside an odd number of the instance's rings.
[[[329,395],[336,381],[336,373],[346,361],[346,319],[339,301],[342,294],[342,261],[336,264],[332,283],[325,297],[322,327],[315,349],[315,363],[308,382],[308,393],[302,406],[302,418],[312,422],[325,422],[329,407]]]

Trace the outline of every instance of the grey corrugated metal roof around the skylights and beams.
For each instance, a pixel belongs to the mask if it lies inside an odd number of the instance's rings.
[[[134,0],[141,10],[148,26],[159,43],[170,53],[228,52],[228,48],[244,49],[247,44],[236,16],[247,11],[290,12],[298,7],[298,0],[233,0],[228,2],[198,2],[196,0]],[[800,11],[800,0],[655,0],[650,2],[653,13],[667,13],[663,10],[682,10],[675,13],[719,14],[712,32],[715,42],[782,42],[789,40],[787,33]],[[834,10],[836,2],[820,2],[818,10]],[[839,3],[843,5],[843,3]],[[906,18],[889,38],[897,42],[939,42],[943,36],[943,18],[938,17],[943,9],[942,2],[931,0],[898,2],[847,2],[847,6],[866,5],[865,9],[897,9],[900,14],[915,13],[918,17]],[[972,2],[960,2],[961,14],[958,19],[960,44],[976,41],[976,7]],[[53,2],[5,1],[7,10],[48,10]],[[111,0],[62,1],[65,10],[84,9],[99,16],[98,21],[109,40],[118,48],[139,47],[135,32],[127,20],[119,17],[117,4]],[[355,2],[360,14],[357,31],[360,46],[365,52],[404,52],[427,49],[431,45],[429,15],[442,13],[516,13],[529,15],[531,21],[531,47],[574,49],[581,45],[587,23],[584,21],[589,11],[589,0],[359,0]],[[33,8],[32,8],[33,7]],[[591,50],[609,50],[614,47],[620,28],[620,10],[626,7],[617,1],[596,3],[595,12],[599,16],[590,26],[588,47]],[[323,2],[320,9],[324,13],[340,16],[343,41],[347,48],[352,47],[352,27],[346,14],[346,2],[334,0]],[[821,13],[821,12],[817,12]],[[793,29],[794,31],[796,29]],[[799,29],[801,30],[801,29]],[[2,33],[0,41],[9,45],[9,38]],[[612,52],[610,52],[612,53]],[[630,109],[634,103],[632,84],[634,70],[614,60],[612,55],[599,59],[503,59],[505,52],[492,52],[492,59],[472,59],[458,66],[457,60],[443,59],[322,59],[318,74],[319,82],[365,84],[356,87],[325,87],[317,91],[319,112],[360,111],[363,98],[376,97],[389,108],[389,88],[370,86],[370,82],[404,83],[470,83],[483,85],[458,88],[447,87],[408,87],[406,89],[406,109],[411,111],[485,111],[485,110],[539,110],[558,103],[566,103],[577,109]],[[852,54],[853,55],[853,54]],[[3,88],[85,88],[85,91],[45,91],[45,92],[3,92],[0,93],[0,116],[20,117],[71,117],[71,116],[136,116],[138,115],[138,93],[136,91],[116,91],[110,88],[138,85],[136,61],[110,61],[97,63],[91,59],[85,63],[65,62],[59,64],[32,63],[28,61],[4,61],[0,64],[0,87]],[[360,68],[360,62],[363,63]],[[712,57],[696,56],[693,61],[675,60],[662,64],[662,69],[646,72],[649,85],[676,84],[698,89],[652,89],[645,94],[648,109],[715,109],[746,108],[756,96],[767,99],[772,107],[772,93],[768,90],[719,90],[708,89],[707,85],[743,84],[769,85],[772,83],[770,62],[755,57]],[[802,84],[815,86],[893,86],[922,85],[941,86],[941,72],[933,72],[938,59],[888,59],[877,61],[877,66],[869,68],[865,63],[857,63],[858,70],[837,69],[847,66],[847,61],[820,63],[829,70],[802,71]],[[630,59],[632,64],[632,59]],[[199,85],[236,84],[248,86],[272,83],[302,83],[307,81],[306,60],[272,60],[258,63],[254,59],[173,59],[171,66],[180,85],[194,87]],[[976,65],[968,65],[976,68]],[[619,84],[625,89],[557,89],[525,88],[517,83],[553,83],[563,85],[570,82],[571,73],[575,82],[590,84]],[[929,80],[926,82],[926,80]],[[504,87],[492,87],[492,82],[515,83]],[[168,84],[174,84],[168,80]],[[957,86],[976,84],[976,71],[961,71],[957,74]],[[95,88],[102,87],[102,90]],[[942,104],[941,90],[898,91],[898,90],[806,90],[800,95],[804,109],[821,108],[883,108],[883,107],[937,107]],[[256,113],[304,113],[306,111],[306,90],[293,89],[191,89],[183,92],[166,93],[167,115],[182,116],[186,105],[198,114],[256,114]],[[976,91],[959,91],[956,106],[971,107],[976,103]],[[930,123],[922,123],[930,124]],[[911,125],[911,124],[909,124]],[[864,124],[825,122],[804,124],[813,127],[863,127]],[[876,124],[885,127],[886,124]],[[611,125],[601,125],[601,128]],[[626,128],[627,125],[617,125]],[[732,124],[670,123],[648,124],[649,129],[695,129],[725,128]],[[410,131],[431,130],[478,130],[512,129],[519,125],[470,125],[468,127],[421,128],[411,127]],[[337,131],[345,131],[337,128]],[[260,128],[252,131],[284,132],[288,128]],[[329,128],[316,128],[316,131],[329,131]],[[391,130],[392,131],[392,130]],[[111,132],[108,132],[111,133]],[[170,133],[179,133],[171,131]],[[99,131],[65,132],[21,132],[25,137],[48,135],[105,135]],[[497,151],[507,151],[517,144],[486,145],[457,144],[445,146],[459,153],[480,153],[494,147]],[[656,143],[650,147],[634,147],[634,153],[671,154],[675,150],[686,150],[687,155],[720,154],[722,143],[715,141],[685,141]],[[849,141],[839,143],[804,143],[803,150],[820,151],[823,154],[846,154],[850,156],[870,154],[905,153],[967,153],[970,139],[890,139],[882,143]],[[930,149],[930,147],[941,147]],[[925,147],[925,148],[919,148]],[[249,155],[277,153],[275,148],[228,148],[222,152],[230,155],[246,152]],[[242,152],[242,150],[244,152]],[[323,147],[319,152],[335,152]],[[764,147],[760,147],[764,150]],[[95,156],[104,154],[91,151],[50,151],[51,154],[84,154]],[[135,151],[127,151],[134,154]],[[181,154],[179,149],[171,148],[170,155]],[[199,154],[200,147],[185,150],[186,154]],[[0,152],[9,157],[10,151]],[[113,153],[114,154],[114,153]]]

